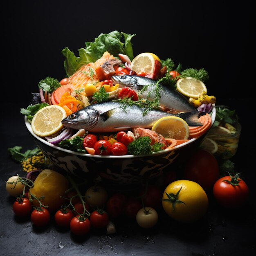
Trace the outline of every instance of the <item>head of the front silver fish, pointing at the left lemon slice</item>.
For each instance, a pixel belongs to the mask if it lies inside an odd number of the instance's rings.
[[[83,108],[79,111],[72,113],[65,117],[61,124],[65,127],[79,130],[81,128],[85,130],[91,130],[98,122],[99,112],[92,108]]]

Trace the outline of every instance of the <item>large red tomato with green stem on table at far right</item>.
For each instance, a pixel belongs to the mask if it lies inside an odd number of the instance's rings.
[[[214,184],[214,198],[222,207],[236,209],[248,201],[249,188],[240,179],[239,174],[236,174],[234,177],[231,175],[222,177]]]

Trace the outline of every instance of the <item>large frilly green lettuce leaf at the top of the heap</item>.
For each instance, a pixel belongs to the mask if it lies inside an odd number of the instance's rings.
[[[124,36],[124,43],[121,38]],[[76,57],[74,52],[68,47],[62,50],[62,54],[66,57],[64,68],[67,76],[71,76],[82,65],[90,62],[95,62],[102,57],[104,52],[109,52],[111,55],[118,57],[118,54],[126,54],[130,60],[133,59],[131,39],[134,35],[119,32],[117,30],[109,34],[100,34],[95,38],[94,42],[85,42],[85,48],[78,50],[79,56]]]

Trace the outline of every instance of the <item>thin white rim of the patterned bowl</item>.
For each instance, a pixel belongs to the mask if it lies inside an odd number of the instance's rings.
[[[215,104],[213,104],[213,109],[212,109],[212,114],[211,114],[211,126],[213,125],[213,122],[215,121],[215,118],[216,118],[216,107],[215,107]],[[66,149],[66,148],[61,148],[61,147],[58,147],[48,141],[46,141],[45,139],[43,139],[42,137],[39,137],[38,135],[36,135],[32,128],[31,128],[31,124],[30,122],[28,121],[27,117],[25,116],[25,125],[27,126],[27,129],[29,130],[29,132],[31,133],[31,135],[33,135],[36,139],[38,139],[40,142],[42,142],[43,144],[47,145],[47,146],[50,146],[56,150],[61,150],[63,152],[66,152],[66,153],[69,153],[69,154],[73,154],[73,155],[80,155],[80,156],[85,156],[85,157],[95,157],[95,158],[113,158],[113,159],[126,159],[126,158],[135,158],[135,157],[149,157],[149,156],[155,156],[155,155],[162,155],[166,152],[169,152],[169,151],[174,151],[174,150],[177,150],[179,148],[183,148],[185,147],[186,145],[189,145],[191,143],[193,143],[193,141],[199,139],[200,137],[197,137],[197,138],[192,138],[190,139],[189,141],[186,141],[182,144],[179,144],[177,146],[174,146],[172,148],[168,148],[168,149],[164,149],[164,150],[159,150],[157,152],[154,152],[150,155],[91,155],[91,154],[88,154],[88,153],[79,153],[79,152],[76,152],[76,151],[72,151],[72,150],[69,150],[69,149]],[[208,130],[209,131],[209,130]]]

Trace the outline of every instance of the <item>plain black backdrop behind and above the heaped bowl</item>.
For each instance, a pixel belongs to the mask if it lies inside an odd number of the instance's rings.
[[[18,108],[46,76],[65,77],[61,50],[113,30],[136,34],[133,52],[204,67],[217,103],[252,98],[254,6],[229,1],[10,1],[2,8],[2,88]],[[237,86],[238,89],[235,89]],[[8,97],[7,96],[7,97]]]

